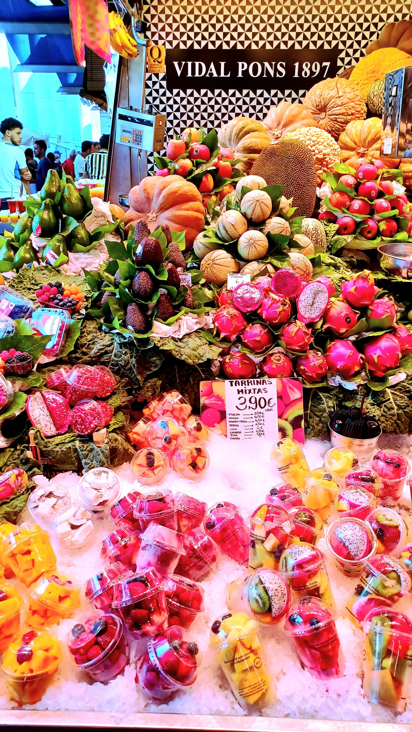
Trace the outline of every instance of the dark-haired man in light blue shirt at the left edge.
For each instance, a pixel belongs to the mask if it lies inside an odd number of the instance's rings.
[[[26,163],[26,157],[20,147],[23,124],[7,117],[0,124],[3,142],[0,143],[0,208],[7,209],[10,198],[18,198],[21,183],[29,195],[32,173]]]

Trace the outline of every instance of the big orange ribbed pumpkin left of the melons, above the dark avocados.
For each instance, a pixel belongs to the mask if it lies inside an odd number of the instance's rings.
[[[186,249],[205,226],[202,195],[193,183],[181,176],[149,176],[129,193],[130,212],[125,228],[139,219],[147,221],[150,231],[167,224],[171,231],[185,231]]]

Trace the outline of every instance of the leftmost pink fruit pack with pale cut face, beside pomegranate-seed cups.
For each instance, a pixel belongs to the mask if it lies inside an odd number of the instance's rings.
[[[45,389],[27,397],[26,411],[30,422],[45,437],[62,435],[70,425],[70,406],[67,399],[57,392]]]

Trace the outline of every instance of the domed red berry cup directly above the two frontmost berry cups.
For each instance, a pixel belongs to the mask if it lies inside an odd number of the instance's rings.
[[[117,582],[113,608],[136,640],[156,635],[167,625],[163,578],[156,569],[149,567]]]

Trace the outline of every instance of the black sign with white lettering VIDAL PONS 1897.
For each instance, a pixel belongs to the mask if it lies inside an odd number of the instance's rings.
[[[170,48],[166,88],[310,89],[317,81],[336,76],[338,56],[337,48]]]

